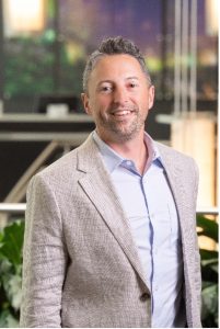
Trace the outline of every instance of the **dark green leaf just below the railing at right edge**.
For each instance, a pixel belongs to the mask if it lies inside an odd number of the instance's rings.
[[[198,232],[198,236],[206,236],[218,242],[219,227],[215,220],[208,219],[201,215],[197,215],[197,226],[201,228],[201,231]]]

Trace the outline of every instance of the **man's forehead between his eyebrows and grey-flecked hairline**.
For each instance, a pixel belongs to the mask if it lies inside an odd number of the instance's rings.
[[[129,75],[144,76],[139,61],[127,54],[104,55],[100,57],[92,70],[93,78],[99,76]]]

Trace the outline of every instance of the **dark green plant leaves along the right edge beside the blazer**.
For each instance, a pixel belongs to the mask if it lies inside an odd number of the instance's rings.
[[[218,224],[204,216],[197,216],[199,236],[218,242]],[[202,277],[201,321],[205,328],[218,328],[218,251],[200,249]]]

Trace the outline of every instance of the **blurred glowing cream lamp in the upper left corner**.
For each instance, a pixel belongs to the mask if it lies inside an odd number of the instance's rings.
[[[45,24],[45,0],[3,0],[5,36],[40,32]]]

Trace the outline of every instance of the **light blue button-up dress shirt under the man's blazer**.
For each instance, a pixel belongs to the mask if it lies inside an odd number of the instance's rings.
[[[159,150],[146,133],[148,160],[141,175],[96,134],[104,163],[116,188],[137,245],[148,287],[151,291],[152,327],[183,328],[183,257],[178,216]]]

